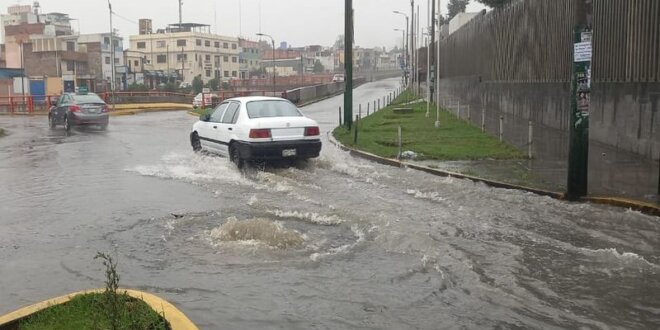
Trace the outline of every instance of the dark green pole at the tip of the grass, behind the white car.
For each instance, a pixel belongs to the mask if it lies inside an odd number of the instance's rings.
[[[344,8],[344,123],[353,125],[353,0],[345,0]]]

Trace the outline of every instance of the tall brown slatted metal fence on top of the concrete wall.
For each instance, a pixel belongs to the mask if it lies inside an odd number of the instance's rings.
[[[441,78],[570,80],[578,0],[518,0],[441,41]],[[660,1],[594,0],[595,82],[660,82]]]

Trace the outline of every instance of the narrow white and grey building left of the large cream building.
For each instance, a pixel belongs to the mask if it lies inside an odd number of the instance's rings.
[[[114,46],[110,45],[110,41]],[[78,36],[78,44],[87,52],[89,74],[95,78],[91,89],[101,92],[111,88],[113,49],[115,68],[115,88],[126,89],[126,67],[124,63],[123,39],[110,33],[83,34]]]

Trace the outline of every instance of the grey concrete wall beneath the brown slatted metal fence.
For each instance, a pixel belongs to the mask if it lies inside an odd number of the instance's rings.
[[[478,77],[440,80],[441,97],[473,109],[531,120],[568,132],[570,84],[480,82]],[[595,83],[589,136],[621,150],[660,156],[660,83]],[[524,129],[524,128],[523,128]]]

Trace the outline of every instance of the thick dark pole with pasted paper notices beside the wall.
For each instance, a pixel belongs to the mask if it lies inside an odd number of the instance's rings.
[[[592,0],[578,0],[575,12],[573,77],[566,198],[587,195],[589,168],[589,100],[591,93]]]

